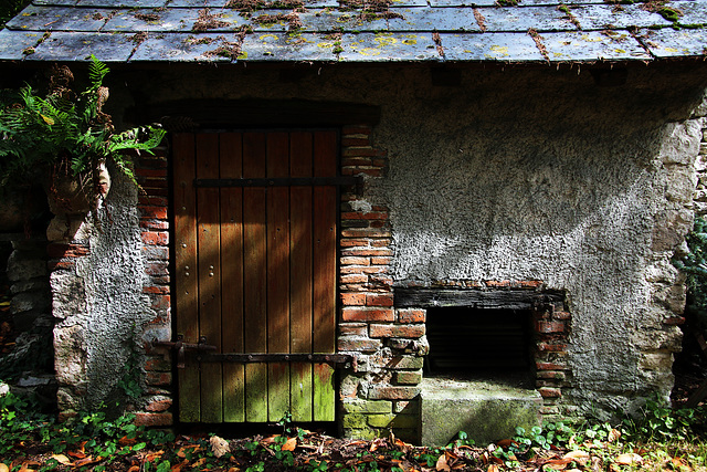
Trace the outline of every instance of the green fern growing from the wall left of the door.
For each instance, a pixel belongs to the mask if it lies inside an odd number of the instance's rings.
[[[55,66],[46,96],[27,85],[0,93],[0,185],[32,181],[57,171],[93,182],[93,172],[112,158],[135,183],[126,150],[150,151],[165,132],[152,126],[115,133],[110,116],[103,113],[108,88],[103,80],[108,67],[92,55],[88,87],[71,90],[73,74]],[[92,186],[93,187],[93,186]]]

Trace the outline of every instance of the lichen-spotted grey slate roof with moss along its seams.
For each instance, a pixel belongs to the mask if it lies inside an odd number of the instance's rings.
[[[499,4],[504,3],[504,6]],[[655,61],[707,56],[707,0],[34,0],[0,60]]]

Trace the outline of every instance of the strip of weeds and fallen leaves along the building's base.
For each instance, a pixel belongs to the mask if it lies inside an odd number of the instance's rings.
[[[281,434],[224,440],[179,436],[84,413],[57,423],[12,394],[0,397],[0,472],[36,471],[340,471],[474,470],[541,472],[674,470],[707,466],[707,410],[673,410],[657,399],[640,418],[619,424],[588,421],[516,430],[514,438],[477,447],[464,432],[444,448],[418,448],[394,436],[336,439],[279,421]]]

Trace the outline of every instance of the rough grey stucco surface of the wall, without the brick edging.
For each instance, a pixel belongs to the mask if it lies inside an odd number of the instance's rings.
[[[598,86],[584,69],[469,67],[460,86],[432,85],[426,67],[328,65],[287,76],[211,66],[116,73],[112,101],[379,105],[372,137],[388,150],[389,170],[367,178],[362,201],[390,209],[395,285],[544,281],[567,294],[572,315],[573,402],[610,411],[634,408],[653,390],[668,394],[679,347],[672,319],[684,298],[669,258],[693,219],[703,118],[690,111],[704,65],[634,65],[615,87]],[[112,244],[133,240],[122,230]],[[122,273],[105,275],[129,285],[136,254],[125,251],[95,259],[96,275],[109,263]],[[91,323],[102,326],[93,338],[117,333],[106,331],[112,317],[139,318],[134,296],[127,311],[108,310],[122,284],[102,287],[107,282],[94,275],[85,283]]]

